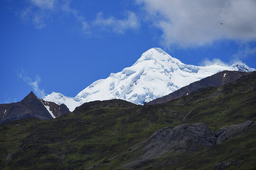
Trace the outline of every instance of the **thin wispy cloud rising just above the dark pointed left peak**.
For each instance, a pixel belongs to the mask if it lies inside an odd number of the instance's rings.
[[[27,83],[27,85],[30,85],[33,88],[34,93],[36,93],[38,97],[40,98],[45,97],[45,90],[39,88],[38,86],[38,84],[41,82],[41,78],[38,75],[33,80],[29,76],[26,76],[26,73],[22,68],[19,70],[16,70],[16,73],[20,79],[22,79],[25,83]]]

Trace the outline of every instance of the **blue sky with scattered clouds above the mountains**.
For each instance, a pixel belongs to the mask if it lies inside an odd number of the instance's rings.
[[[76,96],[152,47],[185,64],[256,68],[255,9],[255,0],[1,0],[0,103],[30,91]]]

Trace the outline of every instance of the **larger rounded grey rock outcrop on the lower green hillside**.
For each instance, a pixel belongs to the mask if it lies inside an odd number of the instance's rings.
[[[204,123],[164,127],[144,143],[142,158],[149,159],[175,150],[202,151],[215,144],[214,133]]]

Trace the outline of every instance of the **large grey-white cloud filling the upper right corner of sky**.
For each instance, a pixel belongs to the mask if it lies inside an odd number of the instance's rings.
[[[256,39],[256,0],[136,1],[152,24],[162,30],[165,46],[193,47],[219,39]]]

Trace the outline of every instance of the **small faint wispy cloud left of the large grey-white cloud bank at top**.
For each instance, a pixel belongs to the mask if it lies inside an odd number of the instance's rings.
[[[94,26],[109,27],[116,33],[123,34],[127,29],[137,29],[140,26],[140,22],[135,13],[127,11],[124,19],[117,19],[115,17],[103,17],[103,12],[99,12],[96,15],[96,19],[93,21]]]

